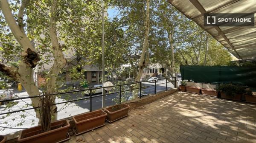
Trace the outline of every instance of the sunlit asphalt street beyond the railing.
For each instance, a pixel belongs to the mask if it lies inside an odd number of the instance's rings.
[[[156,92],[160,91],[165,91],[166,90],[166,80],[159,80],[157,82],[156,86]],[[154,85],[153,83],[148,83],[144,82],[142,84],[142,94],[154,94],[154,86],[151,87],[145,87],[149,85]],[[167,89],[173,88],[172,83],[167,84]],[[117,90],[119,91],[119,90]],[[113,91],[116,92],[116,91]],[[18,94],[19,95],[19,94]],[[27,96],[24,95],[24,93],[20,93],[22,97]],[[102,108],[102,96],[99,96],[102,94],[97,94],[93,95],[92,97],[92,110],[100,109]],[[69,96],[68,100],[74,100],[77,98],[84,98],[84,97],[90,97],[90,96],[85,96],[81,92],[80,93],[69,93],[66,94],[66,96]],[[64,102],[67,101],[67,97],[65,95],[62,95],[60,97],[56,97],[56,103],[59,102]],[[97,97],[99,96],[99,97]],[[132,93],[130,91],[122,92],[122,98],[125,96],[127,100],[130,99],[132,96]],[[119,93],[114,93],[110,95],[105,96],[105,106],[111,106],[114,105],[115,102],[113,101],[114,98],[117,98],[119,101]],[[7,111],[15,111],[15,110],[20,110],[20,109],[26,109],[26,108],[31,108],[30,106],[31,100],[28,99],[23,99],[23,100],[17,100],[17,104],[9,109],[4,109],[5,105],[0,106],[0,113],[7,112]],[[84,112],[89,112],[90,111],[90,99],[86,100],[80,100],[80,101],[75,101],[75,102],[70,102],[66,104],[58,104],[58,120],[67,118],[70,116],[78,115]],[[16,112],[13,114],[10,114],[9,116],[3,118],[3,116],[6,115],[1,115],[0,116],[0,134],[1,135],[6,135],[11,132],[16,132],[21,130],[22,128],[29,128],[32,126],[38,125],[38,118],[35,117],[35,111],[34,109],[31,110],[26,110],[25,112]],[[22,124],[20,124],[22,123]],[[18,126],[19,125],[19,126]],[[8,129],[8,128],[3,128],[3,127],[11,127],[11,128],[20,128],[20,129]]]

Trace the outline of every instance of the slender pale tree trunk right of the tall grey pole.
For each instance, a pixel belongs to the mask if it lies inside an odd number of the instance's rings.
[[[137,76],[134,80],[135,82],[140,81],[143,70],[149,62],[149,54],[148,54],[149,1],[150,0],[146,0],[147,8],[146,8],[146,17],[145,17],[145,20],[144,20],[145,21],[145,37],[144,37],[144,42],[143,42],[143,50],[142,50],[142,53],[140,55],[139,71],[138,71],[138,74],[137,74]]]

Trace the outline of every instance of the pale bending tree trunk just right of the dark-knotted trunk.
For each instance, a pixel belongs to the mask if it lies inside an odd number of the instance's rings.
[[[50,23],[49,23],[49,36],[52,43],[52,53],[54,56],[54,63],[52,68],[47,73],[47,93],[52,94],[56,91],[56,79],[58,74],[61,72],[62,68],[66,65],[66,59],[62,53],[61,46],[58,43],[56,21],[57,21],[57,0],[52,1]],[[53,103],[55,103],[55,98],[52,98]],[[58,119],[57,107],[52,106],[52,117],[53,120]]]

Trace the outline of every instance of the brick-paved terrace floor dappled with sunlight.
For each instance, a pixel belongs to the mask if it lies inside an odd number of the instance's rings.
[[[256,104],[175,92],[65,143],[256,143]]]

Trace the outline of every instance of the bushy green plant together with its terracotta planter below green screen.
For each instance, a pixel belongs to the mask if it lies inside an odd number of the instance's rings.
[[[245,92],[245,86],[236,84],[220,84],[218,91],[221,93],[221,98],[241,101],[241,95]]]

